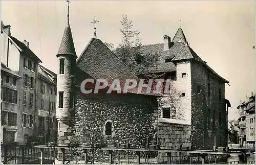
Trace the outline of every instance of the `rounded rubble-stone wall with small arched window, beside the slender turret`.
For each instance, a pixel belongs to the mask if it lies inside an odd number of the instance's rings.
[[[155,97],[134,94],[78,94],[72,142],[83,145],[130,143],[145,147],[155,143],[158,107]],[[112,136],[105,136],[105,124],[112,123]]]

